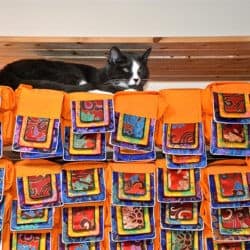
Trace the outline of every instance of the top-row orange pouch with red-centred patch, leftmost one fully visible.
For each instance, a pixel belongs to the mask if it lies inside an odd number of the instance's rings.
[[[20,85],[16,90],[13,150],[38,154],[56,153],[60,141],[63,96],[61,91],[31,89],[30,86]]]

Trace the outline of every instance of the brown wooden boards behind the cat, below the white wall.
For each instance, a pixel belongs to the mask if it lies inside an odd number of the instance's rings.
[[[0,68],[23,58],[102,67],[112,46],[138,53],[152,47],[151,81],[250,80],[250,36],[0,37]]]

